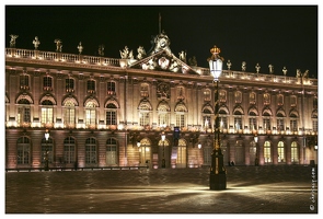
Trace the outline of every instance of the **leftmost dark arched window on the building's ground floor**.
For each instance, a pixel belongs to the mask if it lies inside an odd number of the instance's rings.
[[[20,137],[16,143],[16,163],[30,164],[31,163],[31,141],[27,137]]]

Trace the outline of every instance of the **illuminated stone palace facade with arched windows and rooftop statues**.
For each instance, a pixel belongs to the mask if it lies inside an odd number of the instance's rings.
[[[210,164],[215,87],[209,69],[164,33],[122,58],[5,48],[5,168],[199,168]],[[212,45],[210,45],[212,46]],[[189,64],[188,64],[189,62]],[[237,165],[318,161],[318,80],[231,70],[220,77],[221,149]],[[270,69],[270,66],[269,66]],[[180,127],[180,135],[174,135]],[[49,138],[46,140],[46,129]],[[165,139],[161,134],[164,131]],[[257,136],[257,143],[254,137]],[[47,136],[48,137],[48,136]],[[139,142],[139,143],[138,143]],[[47,157],[45,155],[47,153]]]

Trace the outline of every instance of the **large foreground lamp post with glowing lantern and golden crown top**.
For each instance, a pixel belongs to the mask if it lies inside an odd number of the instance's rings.
[[[210,168],[210,189],[220,191],[227,188],[227,171],[223,165],[223,153],[220,148],[220,124],[219,124],[219,77],[222,72],[223,58],[219,56],[220,48],[214,46],[210,49],[212,56],[208,58],[210,73],[214,77],[216,83],[216,95],[215,95],[215,145],[211,154],[211,168]]]

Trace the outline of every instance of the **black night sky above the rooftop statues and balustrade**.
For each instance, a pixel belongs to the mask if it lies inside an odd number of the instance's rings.
[[[217,45],[232,70],[288,76],[296,70],[318,77],[318,5],[5,5],[5,47],[10,34],[19,35],[16,48],[55,51],[54,41],[62,41],[62,53],[78,54],[82,42],[84,55],[97,55],[105,45],[105,57],[119,58],[125,46],[134,50],[151,48],[151,36],[161,28],[171,39],[172,53],[186,50],[197,65],[207,67],[209,49]],[[227,66],[224,65],[224,69]]]

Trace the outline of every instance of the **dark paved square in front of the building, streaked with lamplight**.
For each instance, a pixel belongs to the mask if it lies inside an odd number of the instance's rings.
[[[208,169],[5,173],[5,214],[318,214],[318,171],[228,166],[227,189]]]

